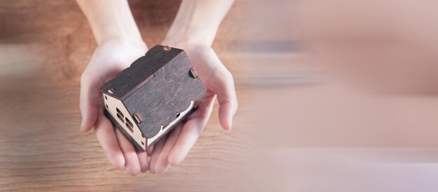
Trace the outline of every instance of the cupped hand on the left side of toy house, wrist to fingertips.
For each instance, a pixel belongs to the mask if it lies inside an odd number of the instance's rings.
[[[104,102],[99,89],[147,50],[141,40],[106,40],[94,51],[90,64],[80,77],[81,130],[87,132],[94,127],[108,160],[116,168],[126,168],[130,175],[148,170],[148,156],[136,152],[129,140],[117,128],[113,128],[111,121],[103,114]]]

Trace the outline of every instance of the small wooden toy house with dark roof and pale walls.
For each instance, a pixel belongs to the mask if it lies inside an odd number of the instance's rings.
[[[205,92],[184,50],[162,45],[100,90],[106,117],[141,152],[190,115]]]

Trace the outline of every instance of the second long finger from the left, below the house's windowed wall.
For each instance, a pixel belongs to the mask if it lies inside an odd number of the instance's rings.
[[[122,149],[123,155],[125,156],[125,168],[129,175],[139,175],[141,168],[139,163],[139,157],[137,156],[134,146],[132,146],[131,142],[125,135],[116,128],[115,135],[117,136],[117,140],[119,142],[120,148]]]

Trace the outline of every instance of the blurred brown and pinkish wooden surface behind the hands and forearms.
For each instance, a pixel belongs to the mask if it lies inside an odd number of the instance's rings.
[[[129,1],[150,47],[179,3]],[[0,189],[436,191],[437,6],[236,0],[213,43],[236,81],[234,129],[213,112],[181,165],[130,177],[79,131],[97,45],[75,1],[2,0]]]

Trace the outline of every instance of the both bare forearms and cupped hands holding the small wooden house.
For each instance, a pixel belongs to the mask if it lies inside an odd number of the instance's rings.
[[[127,1],[76,1],[90,22],[94,38],[99,44],[80,78],[81,129],[89,131],[94,126],[106,156],[116,167],[125,166],[131,175],[146,172],[148,156],[146,153],[136,154],[127,138],[118,129],[114,131],[111,121],[102,114],[103,101],[99,94],[104,82],[146,53],[146,44],[141,40]],[[237,110],[234,80],[209,45],[213,43],[219,24],[233,1],[181,2],[164,45],[183,48],[188,53],[207,91],[199,100],[198,109],[185,124],[178,125],[171,135],[153,146],[155,149],[148,150],[148,154],[154,151],[150,157],[150,172],[164,172],[169,165],[183,161],[208,121],[216,96],[222,128],[229,130],[232,126],[232,118]],[[190,43],[181,43],[181,40]]]

